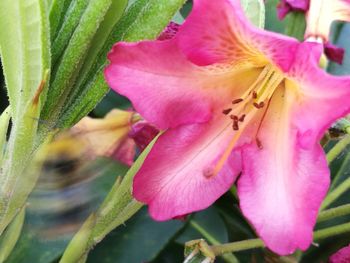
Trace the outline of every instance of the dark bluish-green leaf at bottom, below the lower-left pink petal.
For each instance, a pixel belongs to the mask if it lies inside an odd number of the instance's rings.
[[[156,222],[144,208],[99,243],[87,262],[149,262],[183,225],[179,220]]]

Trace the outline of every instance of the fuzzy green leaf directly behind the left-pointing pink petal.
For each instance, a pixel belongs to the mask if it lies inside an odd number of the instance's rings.
[[[118,41],[155,39],[166,27],[185,0],[138,0],[127,10],[113,28],[105,45],[92,65],[87,78],[80,87],[75,87],[78,96],[70,96],[59,117],[59,127],[69,127],[80,120],[107,93],[103,69],[107,64],[107,53]]]

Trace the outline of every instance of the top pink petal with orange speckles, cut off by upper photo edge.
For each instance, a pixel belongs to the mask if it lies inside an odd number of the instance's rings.
[[[195,0],[191,14],[175,38],[197,65],[262,66],[272,60],[287,70],[298,46],[293,38],[254,27],[237,0]]]

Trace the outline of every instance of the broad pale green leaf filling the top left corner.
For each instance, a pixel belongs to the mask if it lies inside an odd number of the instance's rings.
[[[0,2],[0,55],[14,122],[50,68],[46,11],[44,0]]]

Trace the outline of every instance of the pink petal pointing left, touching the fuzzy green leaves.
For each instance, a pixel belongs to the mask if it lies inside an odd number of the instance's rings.
[[[107,83],[160,129],[208,121],[213,104],[229,103],[234,94],[241,95],[247,78],[253,82],[258,74],[253,69],[237,77],[232,68],[198,67],[184,57],[174,39],[118,43],[108,58]],[[234,88],[233,78],[240,80]]]

